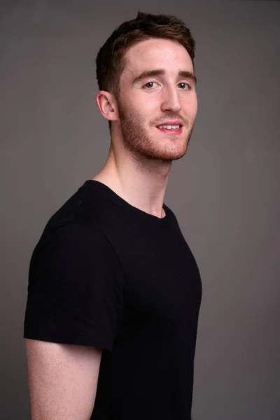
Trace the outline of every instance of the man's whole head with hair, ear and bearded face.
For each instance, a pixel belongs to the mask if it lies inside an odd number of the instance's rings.
[[[160,160],[186,153],[197,113],[194,57],[181,20],[146,13],[120,25],[99,50],[97,104],[128,150]]]

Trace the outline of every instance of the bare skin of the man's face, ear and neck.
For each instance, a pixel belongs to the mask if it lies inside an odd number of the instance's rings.
[[[151,38],[133,45],[125,55],[118,97],[97,94],[102,116],[112,122],[111,148],[100,181],[134,207],[156,217],[162,209],[172,161],[185,155],[197,114],[195,80],[180,76],[193,73],[193,63],[183,45]],[[134,83],[144,71],[160,69]],[[181,134],[174,136],[156,127],[180,120]]]

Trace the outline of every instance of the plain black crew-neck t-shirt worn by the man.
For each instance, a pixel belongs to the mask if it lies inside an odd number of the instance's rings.
[[[202,283],[173,212],[87,180],[34,248],[24,337],[104,349],[92,420],[189,420]]]

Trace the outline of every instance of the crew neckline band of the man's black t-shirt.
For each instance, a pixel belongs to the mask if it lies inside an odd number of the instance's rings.
[[[106,197],[113,199],[114,202],[119,202],[120,204],[125,205],[127,209],[130,209],[130,211],[133,211],[134,214],[138,214],[142,218],[146,218],[147,220],[154,221],[155,223],[159,224],[166,223],[167,221],[169,221],[169,209],[165,205],[165,203],[162,204],[162,207],[165,210],[165,217],[159,218],[157,216],[154,216],[153,214],[146,213],[146,211],[144,210],[138,209],[138,207],[132,206],[132,204],[120,197],[120,195],[115,193],[115,191],[113,191],[109,186],[106,186],[106,184],[100,181],[97,181],[95,179],[87,179],[87,181],[85,181],[85,186],[94,187],[95,189],[99,190],[104,195],[106,195]]]

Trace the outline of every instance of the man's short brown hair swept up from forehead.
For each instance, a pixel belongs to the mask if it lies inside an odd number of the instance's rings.
[[[182,20],[173,15],[138,12],[135,19],[123,22],[113,31],[97,54],[99,90],[118,93],[120,74],[125,68],[125,52],[135,43],[149,38],[166,38],[181,43],[194,66],[195,40]]]

